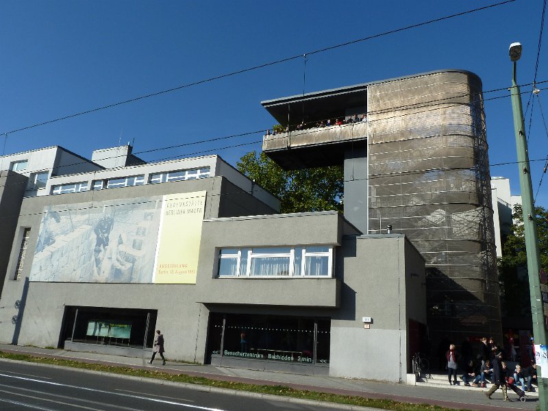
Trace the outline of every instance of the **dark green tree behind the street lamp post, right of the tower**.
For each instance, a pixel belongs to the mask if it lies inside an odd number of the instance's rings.
[[[536,207],[540,266],[548,267],[548,210]],[[502,257],[499,258],[499,282],[503,311],[514,314],[531,312],[529,277],[527,276],[527,251],[521,205],[514,206],[514,223],[510,234],[503,240]]]

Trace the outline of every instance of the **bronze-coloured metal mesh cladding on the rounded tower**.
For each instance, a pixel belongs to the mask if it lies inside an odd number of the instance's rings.
[[[433,343],[501,333],[482,85],[462,72],[368,88],[369,233],[427,263]]]

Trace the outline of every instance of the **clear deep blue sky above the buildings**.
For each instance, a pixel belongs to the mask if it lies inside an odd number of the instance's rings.
[[[449,16],[477,1],[9,1],[0,2],[0,133],[210,77]],[[523,44],[519,84],[534,79],[543,0],[516,0],[108,110],[0,136],[3,153],[61,145],[84,157],[119,142],[153,161],[218,153],[231,164],[274,124],[260,101],[439,69],[482,78],[491,175],[519,194],[506,88],[511,42]],[[548,80],[548,29],[536,75]],[[497,92],[490,90],[503,89]],[[548,122],[548,82],[538,84]],[[522,91],[530,92],[531,86]],[[497,98],[500,97],[500,98]],[[527,107],[530,93],[523,95]],[[536,99],[535,99],[536,100]],[[543,101],[546,101],[543,105]],[[532,125],[529,129],[530,112]],[[530,159],[548,155],[536,100],[526,114]],[[529,131],[530,130],[530,131]],[[5,147],[4,147],[5,143]],[[236,146],[240,147],[228,147]],[[537,191],[544,161],[532,162]],[[537,203],[548,206],[548,176]]]

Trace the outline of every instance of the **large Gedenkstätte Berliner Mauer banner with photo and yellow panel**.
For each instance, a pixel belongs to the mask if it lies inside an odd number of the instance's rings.
[[[201,212],[192,213],[189,221],[182,212],[185,206],[175,212],[174,203],[194,197],[201,199]],[[47,206],[29,280],[151,284],[158,277],[163,284],[195,284],[205,197],[201,191]],[[177,236],[174,227],[179,227]],[[193,239],[195,248],[186,247],[186,238]],[[190,251],[195,256],[193,282],[180,275],[158,275],[158,258],[173,268],[186,264],[190,270]]]

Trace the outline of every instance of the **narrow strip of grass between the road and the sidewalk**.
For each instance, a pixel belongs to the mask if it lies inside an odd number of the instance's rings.
[[[230,390],[248,391],[251,393],[279,395],[284,397],[293,397],[300,399],[309,399],[312,401],[323,401],[330,403],[346,404],[349,406],[362,406],[371,408],[382,408],[383,410],[394,411],[464,411],[463,408],[445,408],[433,406],[429,404],[414,404],[393,401],[390,399],[373,399],[351,395],[337,395],[329,393],[319,393],[316,391],[296,390],[286,386],[270,386],[257,384],[244,384],[241,382],[219,381],[204,377],[194,377],[186,374],[171,374],[164,373],[158,370],[148,369],[133,369],[124,366],[110,366],[103,364],[88,364],[86,362],[78,362],[75,360],[62,360],[59,358],[49,358],[40,356],[31,356],[28,354],[14,354],[0,351],[0,358],[9,360],[18,360],[26,362],[37,362],[40,364],[51,364],[68,366],[74,369],[86,369],[92,371],[100,371],[103,373],[113,373],[121,375],[131,375],[132,377],[147,377],[162,379],[164,381],[182,382],[186,384],[197,384],[201,386],[212,386],[218,388],[227,388]]]

